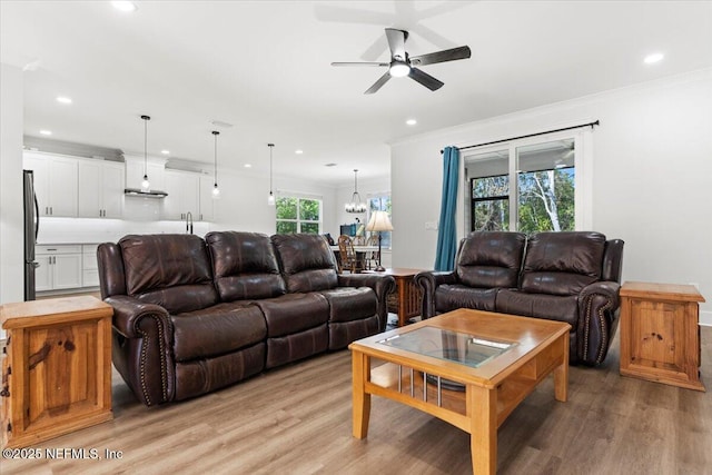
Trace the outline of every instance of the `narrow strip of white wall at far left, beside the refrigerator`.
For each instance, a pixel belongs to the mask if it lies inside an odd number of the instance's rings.
[[[24,299],[22,71],[0,65],[0,304]],[[4,335],[0,330],[0,338]]]

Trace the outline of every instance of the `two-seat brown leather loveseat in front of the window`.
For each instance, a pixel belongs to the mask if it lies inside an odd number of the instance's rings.
[[[619,321],[623,241],[600,232],[472,232],[455,270],[415,277],[423,318],[455,308],[571,325],[571,363],[605,359]]]

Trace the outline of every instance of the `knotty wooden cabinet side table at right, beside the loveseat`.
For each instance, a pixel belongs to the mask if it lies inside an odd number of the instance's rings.
[[[621,287],[621,375],[704,390],[700,380],[699,303],[694,286]]]

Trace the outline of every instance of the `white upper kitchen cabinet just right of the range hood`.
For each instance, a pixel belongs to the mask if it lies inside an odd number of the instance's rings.
[[[194,221],[200,220],[200,175],[191,171],[166,170],[164,219],[185,220],[188,212]]]

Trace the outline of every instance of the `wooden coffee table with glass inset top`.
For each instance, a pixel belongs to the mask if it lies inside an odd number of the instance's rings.
[[[458,309],[354,342],[354,437],[368,433],[370,395],[386,397],[468,433],[473,472],[494,474],[497,428],[536,385],[553,373],[554,397],[566,400],[570,328]],[[372,369],[372,358],[384,364]]]

